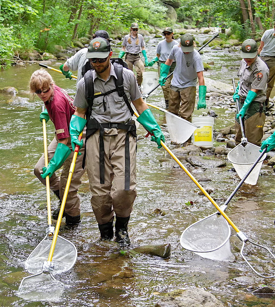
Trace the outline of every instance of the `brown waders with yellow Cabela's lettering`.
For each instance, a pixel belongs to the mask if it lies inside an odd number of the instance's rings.
[[[245,136],[247,138],[247,141],[257,145],[261,146],[261,138],[263,137],[263,126],[265,124],[265,114],[256,113],[252,115],[248,119],[243,119],[243,129]],[[241,132],[241,126],[236,122],[235,119],[235,143],[236,145],[240,144],[242,138],[242,132]]]

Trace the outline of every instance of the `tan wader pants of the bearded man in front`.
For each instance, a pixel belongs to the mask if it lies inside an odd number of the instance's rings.
[[[89,177],[91,205],[99,224],[111,222],[116,216],[128,217],[133,210],[136,192],[136,139],[129,135],[130,190],[125,191],[125,137],[123,129],[105,129],[104,184],[99,178],[99,130],[86,143],[87,173]]]

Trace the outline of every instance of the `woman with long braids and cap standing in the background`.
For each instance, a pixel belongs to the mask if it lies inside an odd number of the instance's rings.
[[[118,57],[122,59],[126,52],[125,61],[128,65],[128,69],[133,70],[133,65],[137,72],[138,87],[141,88],[142,73],[145,72],[144,64],[141,61],[140,53],[142,52],[145,60],[145,66],[148,64],[145,42],[143,36],[138,34],[138,24],[133,22],[130,27],[130,33],[125,35],[122,41],[122,49],[119,52]]]

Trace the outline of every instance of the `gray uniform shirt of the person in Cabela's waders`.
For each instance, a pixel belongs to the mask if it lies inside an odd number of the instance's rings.
[[[238,91],[240,97],[246,98],[248,91],[254,88],[259,91],[253,101],[265,102],[269,69],[263,60],[257,56],[256,60],[248,66],[242,59],[237,76],[240,78]]]

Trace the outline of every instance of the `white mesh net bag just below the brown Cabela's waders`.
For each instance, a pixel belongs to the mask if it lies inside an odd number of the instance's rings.
[[[246,146],[242,146],[242,144],[237,145],[227,154],[228,160],[232,163],[234,169],[241,179],[246,175],[253,163],[260,156],[261,153],[259,152],[259,149],[259,146],[248,142]],[[261,157],[261,160],[257,163],[252,172],[246,178],[244,181],[245,183],[249,185],[257,184],[261,166],[265,160],[265,157],[266,153]]]

